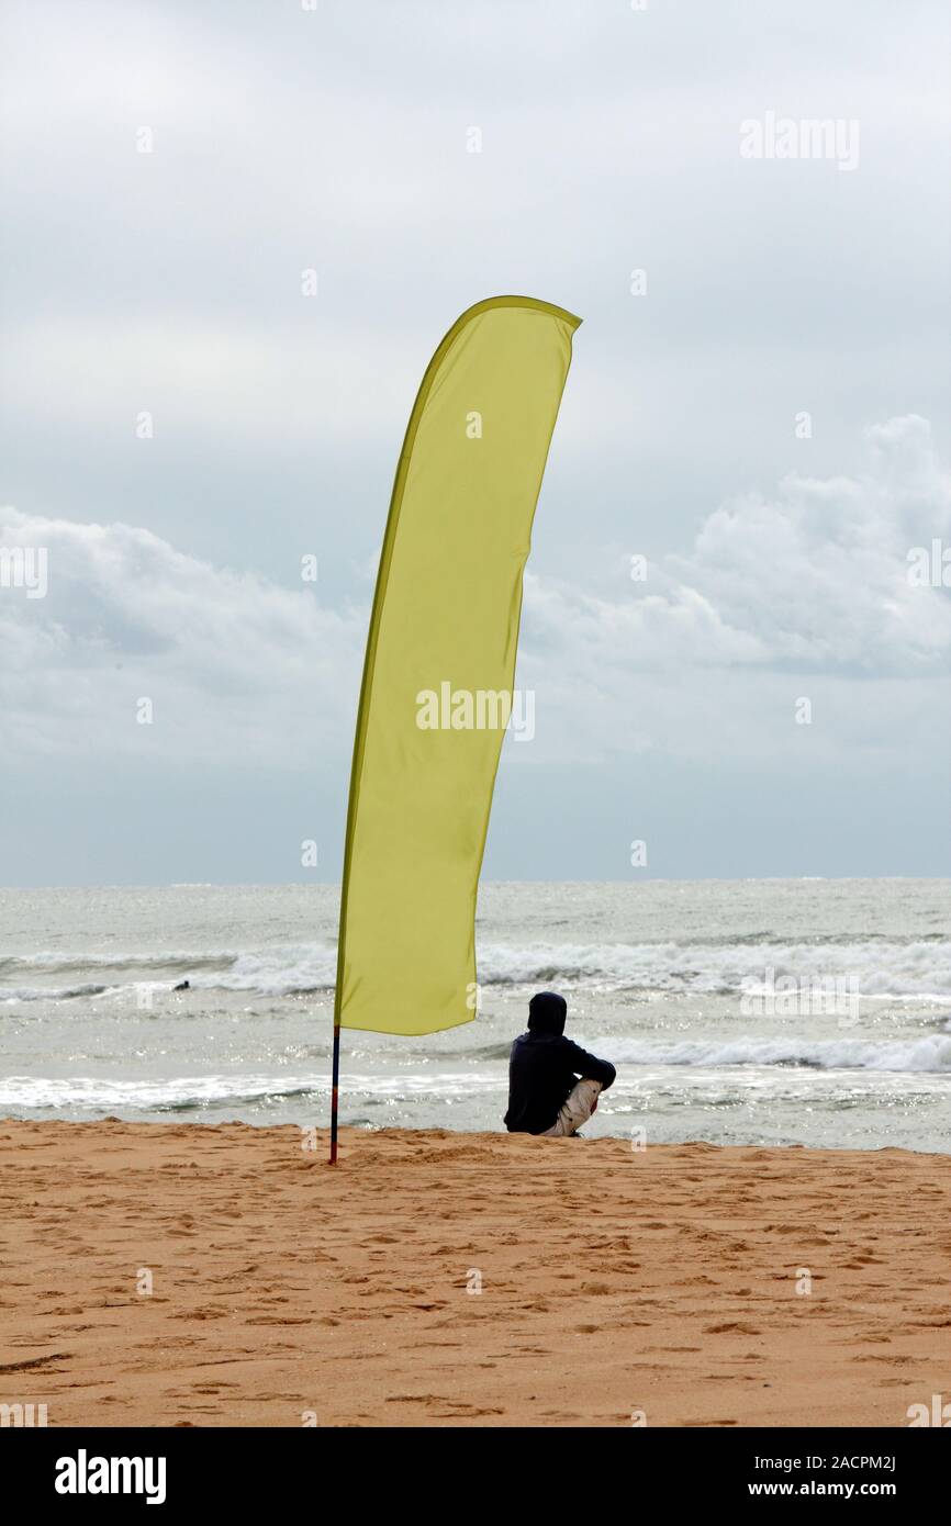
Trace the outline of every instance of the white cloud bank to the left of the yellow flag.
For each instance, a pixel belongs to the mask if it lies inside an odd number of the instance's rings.
[[[0,511],[46,548],[49,592],[0,589],[8,755],[174,755],[301,766],[351,725],[365,615],[311,584],[183,555],[147,530]],[[136,702],[154,703],[139,725]]]

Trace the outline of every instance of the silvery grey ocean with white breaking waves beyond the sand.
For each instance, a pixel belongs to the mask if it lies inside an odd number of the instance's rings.
[[[325,1126],[337,905],[0,891],[0,1116]],[[340,1119],[499,1129],[508,1045],[556,989],[618,1068],[589,1135],[948,1152],[949,911],[951,881],[487,884],[476,1019],[343,1030]]]

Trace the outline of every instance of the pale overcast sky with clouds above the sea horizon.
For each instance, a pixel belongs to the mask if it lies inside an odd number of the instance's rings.
[[[0,586],[5,884],[339,879],[409,409],[510,291],[583,327],[488,877],[946,873],[942,3],[8,0],[0,44],[0,546],[49,566]],[[769,113],[850,154],[746,157]]]

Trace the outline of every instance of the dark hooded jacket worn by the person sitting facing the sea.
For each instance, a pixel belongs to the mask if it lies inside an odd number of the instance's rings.
[[[510,1134],[543,1134],[559,1116],[579,1076],[600,1080],[604,1090],[617,1071],[606,1059],[588,1054],[565,1038],[568,1004],[553,990],[540,990],[528,1003],[528,1033],[519,1035],[508,1061]]]

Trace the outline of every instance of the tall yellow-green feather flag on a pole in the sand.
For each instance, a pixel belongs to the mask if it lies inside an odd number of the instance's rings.
[[[478,302],[400,455],[369,623],[343,859],[339,1029],[475,1016],[475,905],[510,714],[522,569],[580,319]],[[336,1128],[334,1128],[336,1135]]]

